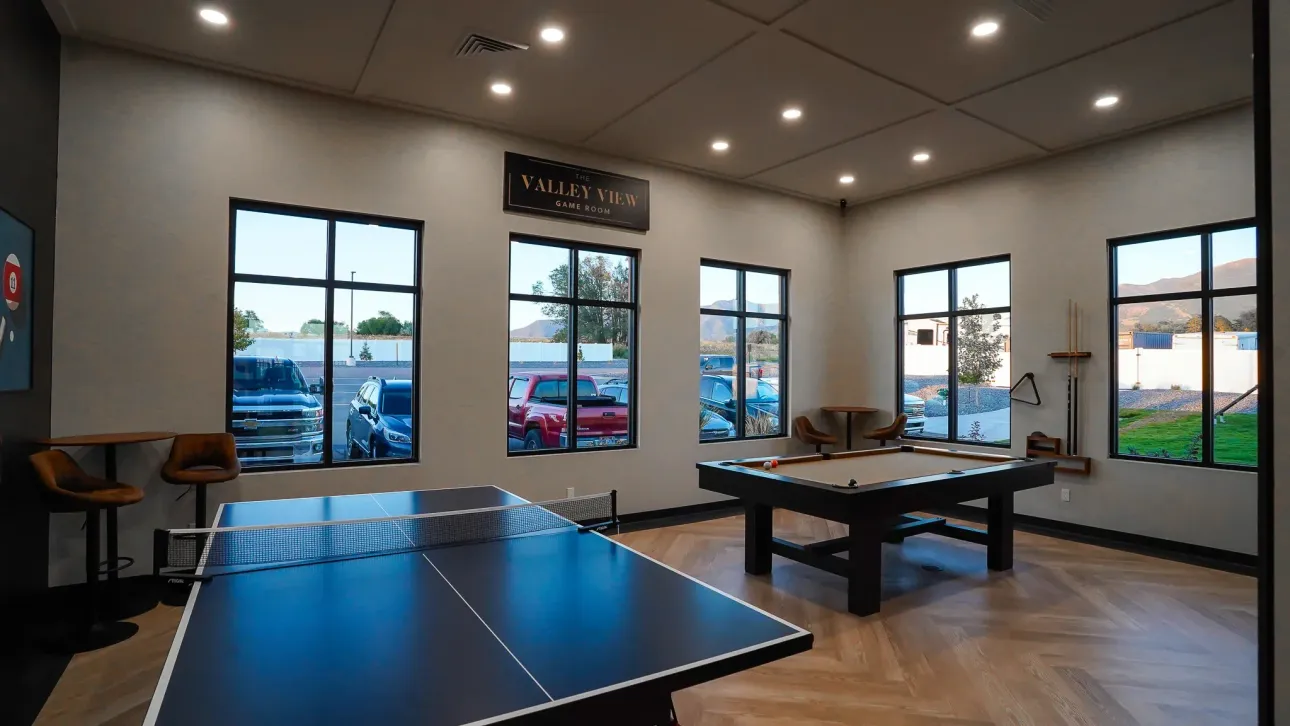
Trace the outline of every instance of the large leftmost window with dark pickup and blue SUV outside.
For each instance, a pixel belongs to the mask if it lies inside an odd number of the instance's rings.
[[[417,458],[421,230],[232,202],[227,420],[244,467]]]

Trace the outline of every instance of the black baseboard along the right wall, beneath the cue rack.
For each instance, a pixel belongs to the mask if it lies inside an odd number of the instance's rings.
[[[968,504],[949,504],[946,507],[938,507],[930,512],[943,517],[968,520],[970,522],[986,521],[986,509]],[[1058,539],[1071,542],[1082,542],[1085,544],[1095,544],[1109,549],[1120,549],[1122,552],[1133,552],[1136,554],[1147,554],[1148,557],[1158,557],[1161,560],[1173,560],[1187,565],[1197,565],[1211,570],[1223,570],[1224,573],[1235,573],[1237,575],[1247,575],[1251,578],[1258,575],[1259,558],[1255,554],[1245,554],[1242,552],[1232,552],[1229,549],[1218,549],[1215,547],[1204,547],[1200,544],[1161,539],[1158,536],[1091,527],[1087,525],[1063,522],[1060,520],[1035,517],[1032,515],[1013,515],[1013,524],[1015,529],[1031,534],[1055,536]]]

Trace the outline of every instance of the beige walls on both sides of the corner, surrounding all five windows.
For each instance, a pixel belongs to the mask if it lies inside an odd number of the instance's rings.
[[[644,177],[653,228],[633,235],[501,211],[503,151]],[[786,440],[699,446],[698,260],[792,271],[791,409],[894,404],[891,271],[1010,253],[1013,370],[1062,435],[1063,309],[1086,309],[1084,383],[1095,476],[1027,493],[1019,511],[1238,552],[1255,549],[1254,476],[1106,460],[1106,239],[1254,214],[1249,110],[860,209],[836,209],[452,121],[343,102],[93,45],[64,49],[53,433],[224,427],[228,197],[423,219],[422,464],[246,475],[214,500],[499,484],[530,498],[617,487],[624,511],[711,500],[698,460],[797,450]],[[1290,223],[1287,223],[1290,226]],[[640,449],[508,459],[507,239],[525,232],[639,248]],[[837,260],[842,263],[838,264]],[[1090,284],[1091,281],[1091,284]],[[863,311],[863,313],[857,312]],[[850,312],[850,313],[848,313]],[[446,383],[445,383],[446,382]],[[155,476],[165,445],[123,451],[147,500],[123,512],[123,551],[191,518]],[[99,460],[90,455],[88,466]],[[75,582],[79,522],[55,517],[52,582]],[[1290,560],[1290,557],[1287,557]]]

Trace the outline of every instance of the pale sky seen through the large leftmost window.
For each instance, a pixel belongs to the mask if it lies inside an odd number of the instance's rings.
[[[237,211],[237,272],[321,280],[326,275],[326,222],[304,217]],[[410,230],[375,224],[337,223],[335,270],[342,280],[414,285],[417,237]],[[311,319],[326,313],[325,290],[237,282],[233,306],[253,309],[273,333],[299,333]],[[337,321],[350,320],[350,290],[335,293]],[[390,311],[399,320],[413,319],[413,295],[353,291],[355,322]]]

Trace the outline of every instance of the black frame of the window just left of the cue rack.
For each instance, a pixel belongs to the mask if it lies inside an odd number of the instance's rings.
[[[960,270],[968,267],[980,267],[983,264],[997,264],[1000,262],[1007,263],[1007,306],[1005,307],[991,307],[979,309],[958,309],[958,275]],[[904,312],[904,279],[909,275],[922,275],[925,272],[940,272],[946,271],[947,284],[946,302],[949,304],[948,309],[944,311],[930,311],[930,312]],[[964,446],[986,446],[991,449],[1011,449],[1013,447],[1013,404],[1009,398],[1007,404],[1007,444],[995,444],[991,441],[974,441],[971,438],[958,437],[958,325],[960,317],[975,317],[980,315],[1007,315],[1009,316],[1009,334],[1007,343],[1009,351],[1006,355],[1009,362],[1011,362],[1011,316],[1013,316],[1013,255],[1011,254],[996,254],[989,257],[978,257],[973,259],[962,259],[955,262],[943,262],[937,264],[925,264],[920,267],[909,267],[906,270],[895,271],[895,411],[900,414],[904,411],[904,324],[909,320],[926,320],[930,317],[944,317],[946,319],[946,340],[948,343],[949,351],[949,396],[946,398],[946,413],[948,428],[946,429],[944,438],[931,437],[926,435],[908,436],[911,440],[917,441],[943,441],[946,444],[964,445]],[[926,427],[926,424],[924,424]],[[924,428],[926,431],[926,428]]]

